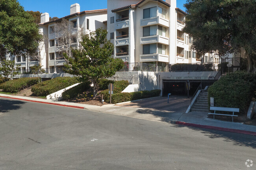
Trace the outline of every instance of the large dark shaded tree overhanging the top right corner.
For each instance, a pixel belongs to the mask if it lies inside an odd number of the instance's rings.
[[[184,6],[192,49],[219,56],[244,49],[248,71],[256,72],[255,0],[188,0]]]

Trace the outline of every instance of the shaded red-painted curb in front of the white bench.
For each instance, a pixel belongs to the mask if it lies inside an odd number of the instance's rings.
[[[176,121],[176,124],[180,124],[180,125],[184,125],[184,126],[192,126],[192,127],[197,127],[197,128],[220,130],[220,131],[225,131],[225,132],[241,133],[241,134],[245,134],[245,135],[256,136],[256,132],[250,132],[250,131],[245,131],[245,130],[221,128],[221,127],[216,127],[216,126],[200,125],[200,124],[186,123],[186,122],[179,122],[179,121]]]

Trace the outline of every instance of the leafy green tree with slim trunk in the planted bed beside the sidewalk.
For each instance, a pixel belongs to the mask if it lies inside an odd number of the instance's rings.
[[[119,58],[112,58],[113,44],[106,39],[106,29],[98,28],[89,35],[83,35],[80,49],[71,49],[73,57],[67,54],[65,70],[72,75],[78,75],[82,80],[93,82],[93,97],[98,94],[100,79],[115,75],[124,66]]]

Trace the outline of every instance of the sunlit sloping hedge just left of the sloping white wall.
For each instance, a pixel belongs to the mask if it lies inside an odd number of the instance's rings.
[[[32,86],[31,91],[35,96],[47,96],[78,82],[80,81],[77,77],[57,77]]]

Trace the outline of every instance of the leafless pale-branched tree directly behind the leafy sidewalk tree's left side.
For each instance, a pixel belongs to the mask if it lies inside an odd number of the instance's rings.
[[[59,57],[63,57],[63,53],[71,56],[71,44],[77,42],[83,34],[83,29],[74,25],[69,20],[62,19],[61,22],[54,24],[54,32],[56,38],[56,51]],[[77,43],[76,48],[79,48],[80,44]]]

